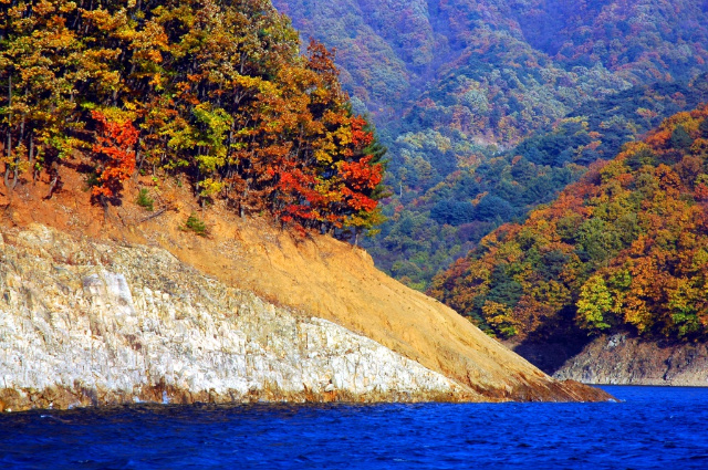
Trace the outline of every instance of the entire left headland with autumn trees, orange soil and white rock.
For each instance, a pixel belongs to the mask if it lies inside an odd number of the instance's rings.
[[[0,411],[610,398],[324,233],[386,191],[333,59],[269,0],[0,0]]]

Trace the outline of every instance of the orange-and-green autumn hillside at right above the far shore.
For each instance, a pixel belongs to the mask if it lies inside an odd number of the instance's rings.
[[[502,337],[708,333],[708,106],[666,119],[437,276],[430,293]]]

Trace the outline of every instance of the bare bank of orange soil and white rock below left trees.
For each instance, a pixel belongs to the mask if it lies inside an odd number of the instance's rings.
[[[81,188],[66,171],[65,188]],[[129,202],[136,187],[110,210],[45,191],[21,186],[0,213],[2,408],[607,398],[552,379],[329,237],[219,207],[199,213],[198,237],[179,185],[154,189],[153,213]]]

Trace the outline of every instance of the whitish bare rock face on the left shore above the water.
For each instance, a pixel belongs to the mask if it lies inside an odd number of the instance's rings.
[[[14,403],[56,388],[94,404],[146,399],[156,387],[180,403],[461,391],[369,338],[227,288],[160,249],[32,226],[6,232],[0,250],[0,389],[18,390]]]

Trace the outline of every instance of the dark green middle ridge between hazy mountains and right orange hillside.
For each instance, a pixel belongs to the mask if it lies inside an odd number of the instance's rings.
[[[430,189],[409,191],[384,207],[388,222],[367,249],[378,265],[417,289],[447,269],[489,231],[521,220],[577,180],[587,165],[607,159],[662,122],[662,117],[708,102],[708,77],[690,84],[641,85],[581,106],[510,150],[481,157]],[[409,180],[429,177],[420,143]],[[413,146],[404,148],[409,152]]]

